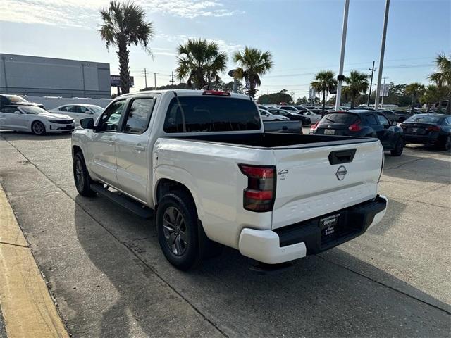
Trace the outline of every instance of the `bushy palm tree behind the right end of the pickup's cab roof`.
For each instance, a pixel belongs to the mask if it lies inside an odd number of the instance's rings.
[[[235,52],[233,61],[238,65],[235,77],[239,80],[245,79],[247,94],[254,97],[257,92],[255,88],[261,85],[260,76],[273,68],[271,52],[246,46],[244,51]]]

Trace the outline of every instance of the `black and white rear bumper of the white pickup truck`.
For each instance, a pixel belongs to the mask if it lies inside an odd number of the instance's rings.
[[[336,234],[331,239],[322,236],[321,215],[301,223],[276,230],[245,228],[240,234],[239,249],[243,256],[268,264],[277,264],[320,253],[364,234],[385,215],[387,198],[382,195],[350,208],[335,211],[340,214]]]

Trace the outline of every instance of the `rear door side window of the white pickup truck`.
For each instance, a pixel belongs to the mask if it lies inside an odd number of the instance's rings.
[[[134,99],[128,110],[127,120],[123,132],[130,134],[142,134],[149,125],[152,109],[154,108],[154,99]]]

